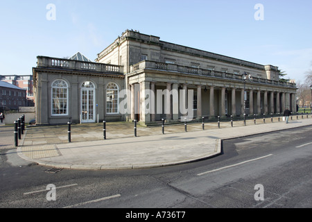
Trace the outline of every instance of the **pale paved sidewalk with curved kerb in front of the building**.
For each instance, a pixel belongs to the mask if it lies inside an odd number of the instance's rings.
[[[221,152],[221,140],[257,135],[276,130],[312,125],[312,118],[296,119],[288,124],[270,118],[230,122],[201,123],[146,128],[138,126],[134,137],[133,123],[107,123],[107,139],[103,139],[103,123],[71,126],[71,143],[67,126],[42,126],[26,129],[20,157],[38,164],[68,169],[135,169],[182,164],[213,157]]]

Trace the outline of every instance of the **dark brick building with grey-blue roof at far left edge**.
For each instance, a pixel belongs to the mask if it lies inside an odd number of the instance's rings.
[[[26,89],[0,81],[0,107],[1,110],[18,110],[26,106]]]

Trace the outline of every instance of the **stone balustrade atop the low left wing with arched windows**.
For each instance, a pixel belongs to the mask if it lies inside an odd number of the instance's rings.
[[[78,60],[67,60],[62,58],[51,58],[46,56],[37,57],[37,67],[114,72],[120,74],[123,73],[123,67],[119,65],[108,65],[97,62],[83,62]]]

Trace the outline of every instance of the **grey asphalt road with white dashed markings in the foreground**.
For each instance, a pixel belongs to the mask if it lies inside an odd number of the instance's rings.
[[[226,140],[222,155],[155,169],[53,173],[2,149],[0,207],[122,208],[121,218],[132,208],[312,207],[311,130]]]

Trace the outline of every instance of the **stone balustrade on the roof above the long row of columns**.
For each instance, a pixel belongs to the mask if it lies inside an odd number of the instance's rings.
[[[176,64],[170,64],[170,63],[165,63],[165,62],[154,62],[154,61],[149,61],[149,60],[144,60],[135,65],[130,66],[130,72],[138,71],[141,69],[159,69],[159,70],[166,70],[166,71],[177,71],[180,73],[187,73],[187,74],[196,74],[200,76],[214,76],[218,78],[227,78],[230,80],[233,80],[233,79],[243,80],[242,74],[234,74],[234,73],[216,71],[216,70],[211,70],[211,69],[187,67],[183,65],[176,65]],[[278,80],[270,80],[266,78],[251,77],[250,80],[252,81],[252,83],[265,83],[265,84],[270,84],[270,85],[280,85],[284,87],[293,87],[293,88],[296,87],[295,83],[284,83]]]

